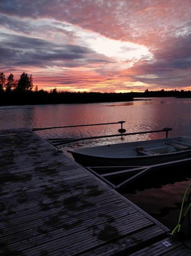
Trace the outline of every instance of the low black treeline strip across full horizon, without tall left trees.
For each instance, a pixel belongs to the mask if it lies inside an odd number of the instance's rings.
[[[147,91],[147,92],[51,92],[39,91],[10,91],[0,92],[0,105],[28,105],[28,104],[69,104],[93,102],[133,101],[135,97],[191,97],[190,91]]]

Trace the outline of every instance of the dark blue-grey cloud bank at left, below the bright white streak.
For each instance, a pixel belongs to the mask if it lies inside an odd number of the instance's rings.
[[[0,34],[3,63],[35,66],[78,67],[90,63],[106,63],[94,51],[78,45],[60,45],[26,36]],[[95,55],[99,56],[96,59]],[[94,57],[91,59],[91,57]],[[72,61],[72,62],[71,62]]]

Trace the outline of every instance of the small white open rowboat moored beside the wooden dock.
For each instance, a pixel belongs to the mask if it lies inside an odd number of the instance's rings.
[[[191,157],[189,137],[121,142],[67,150],[84,167],[146,166]]]

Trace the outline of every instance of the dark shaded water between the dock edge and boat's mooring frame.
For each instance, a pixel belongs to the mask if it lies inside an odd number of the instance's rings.
[[[178,224],[182,200],[190,182],[189,165],[179,165],[177,172],[171,167],[149,173],[128,185],[123,193],[126,198],[173,230]],[[183,214],[188,206],[188,195],[189,193],[185,198]],[[185,233],[189,231],[188,218],[189,213],[181,227],[181,231]]]

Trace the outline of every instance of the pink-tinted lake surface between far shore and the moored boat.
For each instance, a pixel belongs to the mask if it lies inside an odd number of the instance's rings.
[[[191,99],[149,98],[133,102],[109,102],[93,104],[52,104],[34,106],[0,107],[0,129],[16,127],[50,127],[105,122],[126,121],[123,127],[127,132],[173,129],[173,134],[190,136]],[[120,127],[92,126],[83,129],[54,129],[42,131],[42,137],[69,137],[115,134]],[[173,135],[172,134],[172,135]],[[150,134],[146,138],[163,137],[163,134]],[[141,140],[143,136],[134,137]],[[134,139],[133,138],[133,139]],[[127,140],[125,138],[125,140]]]

